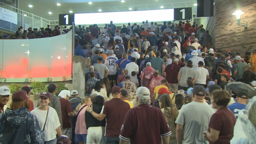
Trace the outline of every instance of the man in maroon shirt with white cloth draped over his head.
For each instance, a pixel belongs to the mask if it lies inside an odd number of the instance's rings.
[[[61,106],[61,116],[62,116],[62,134],[72,139],[72,124],[71,117],[75,116],[75,113],[72,110],[71,104],[68,101],[70,97],[69,90],[62,90],[59,93],[60,106]]]

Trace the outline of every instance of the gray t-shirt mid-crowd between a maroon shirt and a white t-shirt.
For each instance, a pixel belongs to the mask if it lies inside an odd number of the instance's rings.
[[[196,72],[193,68],[190,67],[182,67],[179,71],[179,73],[181,74],[180,76],[180,81],[179,81],[179,85],[182,87],[187,87],[187,79],[188,77],[192,77],[194,78],[196,76]]]

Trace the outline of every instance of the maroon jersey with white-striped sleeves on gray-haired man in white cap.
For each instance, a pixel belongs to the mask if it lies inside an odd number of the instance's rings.
[[[157,107],[138,105],[124,119],[119,138],[131,144],[160,144],[161,136],[171,134],[164,114]]]

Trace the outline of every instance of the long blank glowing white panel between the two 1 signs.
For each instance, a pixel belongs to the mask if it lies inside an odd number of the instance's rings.
[[[125,12],[105,12],[105,13],[81,13],[75,14],[75,24],[105,24],[113,23],[132,23],[148,21],[172,21],[174,19],[173,9],[144,10],[144,11],[125,11]]]

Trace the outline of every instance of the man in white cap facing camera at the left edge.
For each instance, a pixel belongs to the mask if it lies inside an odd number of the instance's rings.
[[[10,89],[8,87],[0,87],[0,113],[4,112],[4,105],[9,101]]]

